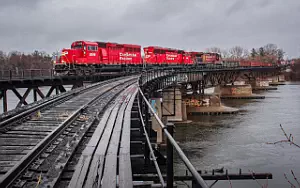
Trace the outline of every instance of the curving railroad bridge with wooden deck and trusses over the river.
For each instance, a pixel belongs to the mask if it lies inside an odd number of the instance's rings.
[[[165,89],[187,86],[204,94],[207,87],[231,84],[241,77],[251,81],[276,76],[282,69],[185,67],[149,69],[142,74],[2,79],[3,101],[11,89],[20,102],[0,117],[0,187],[173,187],[176,181],[212,187],[228,178],[271,179],[270,173],[224,169],[201,173],[173,138],[174,124],[158,116],[150,99]],[[96,83],[79,87],[91,80]],[[72,90],[51,97],[37,89],[51,86],[52,91],[63,91],[60,86],[70,83]],[[43,99],[27,105],[28,92],[17,94],[22,87]],[[176,116],[175,110],[167,116]],[[174,175],[174,151],[186,166],[184,176]]]

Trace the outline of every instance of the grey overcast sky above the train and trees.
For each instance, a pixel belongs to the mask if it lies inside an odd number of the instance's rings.
[[[0,0],[0,50],[48,53],[73,41],[185,50],[275,43],[300,56],[300,0]]]

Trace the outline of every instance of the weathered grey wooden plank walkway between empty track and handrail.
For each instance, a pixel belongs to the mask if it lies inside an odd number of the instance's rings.
[[[121,187],[132,187],[130,114],[136,94],[136,85],[127,88],[105,111],[76,165],[69,187],[117,187],[119,173]]]

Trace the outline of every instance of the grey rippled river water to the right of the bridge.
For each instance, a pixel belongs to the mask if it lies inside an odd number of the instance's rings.
[[[300,144],[300,83],[287,84],[275,91],[260,92],[265,99],[223,101],[239,108],[239,114],[189,117],[192,123],[176,126],[176,140],[199,170],[224,167],[229,173],[238,173],[239,168],[242,172],[271,172],[273,180],[268,181],[268,187],[276,188],[290,187],[284,178],[286,173],[297,186],[291,170],[300,179],[300,148],[288,143],[267,144],[285,139],[280,124]],[[177,157],[175,161],[176,173],[184,175],[185,166]],[[253,180],[231,182],[232,187],[261,187]],[[219,181],[213,187],[230,184]]]

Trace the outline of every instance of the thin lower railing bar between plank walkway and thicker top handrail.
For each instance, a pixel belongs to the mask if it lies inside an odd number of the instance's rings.
[[[157,175],[159,177],[159,181],[160,181],[162,187],[165,187],[164,178],[163,178],[161,170],[160,170],[160,168],[158,166],[158,163],[157,163],[157,160],[156,160],[156,156],[155,156],[154,151],[152,149],[150,138],[149,138],[149,135],[148,135],[148,133],[146,131],[145,123],[143,121],[143,116],[142,116],[142,112],[141,112],[141,108],[140,108],[140,100],[138,100],[138,109],[139,109],[140,118],[142,120],[141,122],[142,122],[142,125],[143,125],[143,130],[144,130],[144,134],[145,134],[145,137],[146,137],[146,141],[147,141],[148,147],[150,149],[150,154],[151,154],[152,160],[154,162],[154,165],[155,165],[155,168],[156,168],[156,171],[157,171]]]

